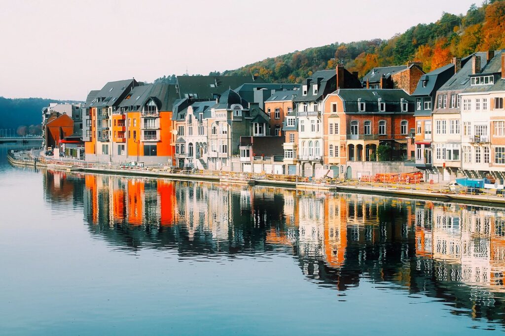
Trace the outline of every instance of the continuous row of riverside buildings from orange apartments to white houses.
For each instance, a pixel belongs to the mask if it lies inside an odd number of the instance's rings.
[[[503,179],[504,64],[497,50],[429,73],[409,62],[361,79],[339,65],[299,84],[109,82],[82,107],[85,159],[315,178],[358,178],[372,166],[438,181]]]

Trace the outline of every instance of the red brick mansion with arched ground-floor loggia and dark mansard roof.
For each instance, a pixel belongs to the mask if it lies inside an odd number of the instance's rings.
[[[399,89],[340,89],[324,101],[324,164],[333,177],[354,177],[349,161],[409,159],[408,133],[414,127],[414,99]]]

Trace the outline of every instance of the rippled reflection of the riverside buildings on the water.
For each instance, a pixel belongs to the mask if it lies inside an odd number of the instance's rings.
[[[30,172],[4,165],[0,172],[6,171],[7,181]],[[31,174],[42,176],[45,204],[55,219],[82,215],[92,240],[113,253],[138,258],[148,252],[195,271],[204,264],[252,261],[275,267],[285,259],[328,291],[331,304],[363,300],[366,307],[371,297],[357,299],[355,292],[383,293],[386,300],[405,297],[419,307],[443,304],[448,316],[471,328],[501,329],[505,323],[502,208],[45,170]],[[0,183],[4,188],[9,182]],[[282,279],[279,272],[271,275]],[[306,304],[314,300],[306,299]]]

